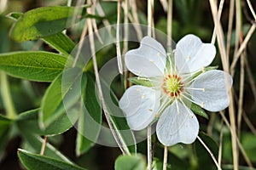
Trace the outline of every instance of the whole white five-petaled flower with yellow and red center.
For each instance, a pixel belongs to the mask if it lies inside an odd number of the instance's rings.
[[[151,83],[131,86],[119,100],[131,129],[142,130],[159,118],[156,133],[162,144],[193,143],[199,123],[189,104],[207,111],[221,111],[230,104],[230,75],[205,69],[215,54],[212,44],[194,35],[177,42],[174,57],[166,54],[160,42],[143,37],[139,48],[125,54],[128,70]]]

